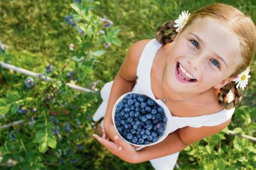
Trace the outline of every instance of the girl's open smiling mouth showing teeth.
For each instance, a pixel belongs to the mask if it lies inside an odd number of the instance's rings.
[[[179,64],[179,62],[176,63],[176,69],[175,69],[175,75],[179,82],[182,83],[190,83],[190,82],[197,82],[195,78],[192,78],[193,76],[189,75],[188,73],[184,73],[184,69],[181,68],[182,66]]]

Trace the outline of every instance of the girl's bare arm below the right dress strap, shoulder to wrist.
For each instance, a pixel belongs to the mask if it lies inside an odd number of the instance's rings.
[[[200,141],[207,136],[218,133],[228,126],[230,121],[231,118],[217,126],[202,126],[199,128],[186,126],[178,129],[170,133],[164,139],[164,141],[139,150],[136,163],[149,161],[158,157],[171,155],[178,151],[182,151],[191,143]]]

